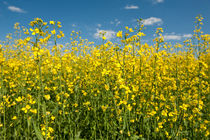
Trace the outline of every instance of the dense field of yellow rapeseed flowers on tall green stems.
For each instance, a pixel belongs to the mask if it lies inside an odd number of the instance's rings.
[[[183,44],[142,43],[144,26],[94,45],[36,18],[0,42],[0,139],[172,139],[210,136],[210,35],[196,18]],[[49,45],[53,42],[53,45]]]

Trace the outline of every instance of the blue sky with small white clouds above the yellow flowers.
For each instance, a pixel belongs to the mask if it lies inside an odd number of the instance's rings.
[[[125,26],[135,27],[136,19],[145,20],[151,40],[157,27],[163,27],[166,40],[182,41],[193,34],[195,17],[204,17],[203,31],[210,33],[210,0],[0,0],[0,40],[14,32],[14,23],[23,26],[36,17],[60,21],[68,37],[72,30],[82,37],[98,41],[98,32],[107,38]]]

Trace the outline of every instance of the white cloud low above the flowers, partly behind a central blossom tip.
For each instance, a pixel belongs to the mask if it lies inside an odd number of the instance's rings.
[[[115,38],[115,34],[116,34],[116,32],[113,30],[99,30],[99,29],[97,29],[96,33],[94,34],[94,38],[101,38],[102,33],[104,33],[104,36],[106,37],[106,39]]]

